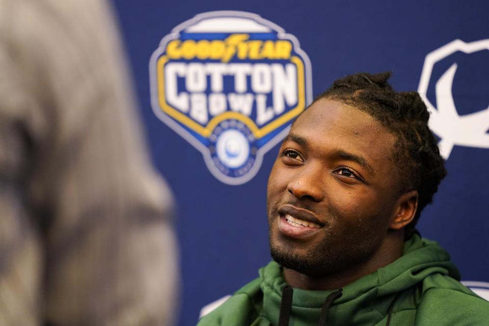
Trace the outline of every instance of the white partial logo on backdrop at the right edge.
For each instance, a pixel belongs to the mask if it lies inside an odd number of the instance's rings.
[[[426,96],[431,72],[437,62],[457,51],[469,54],[480,50],[489,50],[489,39],[471,43],[454,40],[428,53],[424,61],[418,93],[430,113],[429,127],[441,138],[438,145],[445,159],[450,156],[454,145],[489,148],[489,134],[486,133],[489,129],[489,107],[472,114],[458,115],[452,95],[456,63],[451,65],[436,82],[437,107],[435,107]]]

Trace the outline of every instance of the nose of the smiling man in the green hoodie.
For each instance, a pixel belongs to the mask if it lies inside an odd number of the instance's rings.
[[[323,177],[314,169],[304,168],[287,184],[287,190],[298,199],[320,202],[324,197]]]

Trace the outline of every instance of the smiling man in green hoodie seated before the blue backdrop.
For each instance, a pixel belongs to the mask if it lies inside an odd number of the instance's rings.
[[[446,171],[416,92],[337,80],[295,120],[267,189],[271,256],[200,325],[482,325],[489,303],[414,229]]]

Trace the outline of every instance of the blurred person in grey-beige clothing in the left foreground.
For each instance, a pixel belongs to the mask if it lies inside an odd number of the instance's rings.
[[[111,8],[0,0],[0,324],[167,325],[178,268]]]

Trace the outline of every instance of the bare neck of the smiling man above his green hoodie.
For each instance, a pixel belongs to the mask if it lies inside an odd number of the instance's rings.
[[[370,259],[336,274],[312,277],[293,269],[284,268],[285,281],[291,287],[304,290],[334,290],[342,288],[401,257],[404,248],[403,238],[403,232],[391,234]]]

